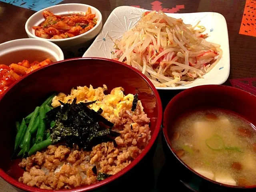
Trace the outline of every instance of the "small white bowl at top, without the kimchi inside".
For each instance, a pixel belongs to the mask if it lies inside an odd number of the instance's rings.
[[[78,44],[83,44],[89,40],[92,40],[96,35],[98,35],[98,33],[102,28],[102,15],[100,11],[95,7],[92,7],[86,4],[79,4],[79,3],[60,4],[60,5],[55,5],[55,6],[42,9],[36,12],[35,14],[33,14],[30,18],[28,18],[25,24],[26,33],[28,34],[29,38],[42,39],[35,35],[35,30],[32,27],[39,26],[45,20],[42,15],[42,12],[44,10],[49,10],[50,12],[53,12],[56,15],[63,16],[63,15],[70,15],[70,14],[85,14],[88,7],[91,8],[92,13],[96,14],[96,18],[98,18],[97,24],[94,26],[94,28],[78,36],[74,36],[66,39],[46,39],[60,46],[60,48],[68,48],[68,47],[76,46]]]

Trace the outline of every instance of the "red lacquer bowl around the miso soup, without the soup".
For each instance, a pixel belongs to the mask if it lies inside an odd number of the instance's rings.
[[[256,96],[248,92],[223,85],[204,85],[184,90],[172,98],[164,111],[162,144],[168,163],[172,162],[170,163],[173,166],[172,171],[176,172],[176,175],[179,175],[181,180],[186,180],[187,184],[189,183],[191,186],[199,184],[197,187],[202,189],[199,191],[226,192],[231,190],[233,192],[244,191],[245,189],[255,191],[256,185],[246,187],[231,186],[210,180],[195,172],[178,158],[174,152],[168,137],[168,132],[172,129],[173,123],[184,112],[200,108],[218,108],[227,110],[248,120],[253,125],[256,125]],[[192,188],[191,186],[190,188]]]

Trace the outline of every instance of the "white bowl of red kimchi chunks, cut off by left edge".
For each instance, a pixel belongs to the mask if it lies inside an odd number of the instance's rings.
[[[0,96],[26,74],[64,60],[54,43],[38,39],[16,39],[0,44]]]

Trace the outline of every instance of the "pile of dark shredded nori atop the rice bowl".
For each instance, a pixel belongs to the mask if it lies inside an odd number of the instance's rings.
[[[54,126],[49,128],[53,143],[63,141],[70,147],[76,144],[80,148],[91,150],[92,146],[113,141],[120,135],[111,130],[114,126],[112,122],[88,108],[88,105],[96,101],[76,104],[75,98],[71,104],[59,102],[61,106],[46,113],[49,122],[55,121]],[[99,122],[104,126],[100,126]],[[106,126],[110,128],[106,129]]]

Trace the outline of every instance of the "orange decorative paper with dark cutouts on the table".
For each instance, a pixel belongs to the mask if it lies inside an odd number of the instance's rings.
[[[256,0],[246,0],[239,34],[256,37]]]

